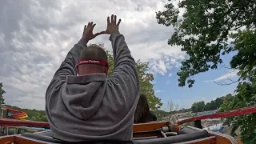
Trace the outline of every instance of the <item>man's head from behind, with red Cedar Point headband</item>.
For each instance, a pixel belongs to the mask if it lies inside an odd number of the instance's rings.
[[[107,54],[101,47],[88,46],[82,50],[77,65],[78,75],[107,74],[108,68]]]

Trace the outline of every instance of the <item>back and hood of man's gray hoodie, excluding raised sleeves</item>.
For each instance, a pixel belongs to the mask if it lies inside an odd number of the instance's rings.
[[[131,140],[136,94],[118,90],[117,84],[107,80],[103,74],[79,76],[62,86],[56,103],[51,103],[51,131],[62,135],[54,138],[68,142],[80,140]],[[86,83],[97,78],[98,82]],[[71,78],[72,79],[72,78]],[[130,88],[132,89],[132,88]],[[129,95],[127,95],[129,94]],[[126,100],[130,98],[130,100]],[[134,98],[134,99],[132,99]],[[129,103],[134,102],[134,103]],[[49,110],[47,110],[49,111]],[[72,138],[72,139],[70,139]]]

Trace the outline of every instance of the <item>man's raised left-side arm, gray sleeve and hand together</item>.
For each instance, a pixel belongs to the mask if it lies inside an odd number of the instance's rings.
[[[68,52],[61,66],[55,72],[54,78],[51,80],[46,90],[46,102],[52,90],[60,90],[59,88],[66,82],[66,76],[77,74],[75,66],[78,63],[82,49],[87,47],[87,42],[99,35],[99,33],[93,34],[95,25],[96,24],[93,24],[93,22],[89,22],[88,25],[84,27],[81,40]]]

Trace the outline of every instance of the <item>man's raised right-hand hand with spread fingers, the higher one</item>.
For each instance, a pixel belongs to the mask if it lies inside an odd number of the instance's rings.
[[[100,32],[100,34],[113,34],[115,32],[118,32],[120,22],[121,22],[121,19],[119,19],[117,23],[117,16],[114,14],[111,15],[111,21],[110,21],[110,17],[107,17],[106,30]]]

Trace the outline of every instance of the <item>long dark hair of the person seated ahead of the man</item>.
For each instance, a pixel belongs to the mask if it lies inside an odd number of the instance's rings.
[[[150,112],[150,106],[147,102],[145,94],[140,94],[138,104],[134,113],[134,123],[147,122],[147,117]]]

